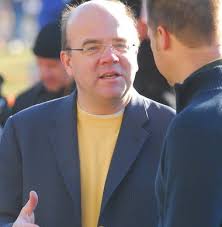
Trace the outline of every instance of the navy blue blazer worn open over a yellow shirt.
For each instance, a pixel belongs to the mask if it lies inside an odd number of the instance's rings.
[[[154,182],[174,110],[138,93],[124,111],[98,225],[157,224]],[[29,191],[41,227],[81,227],[76,93],[10,117],[0,144],[0,226],[15,221]],[[11,224],[9,224],[11,226]]]

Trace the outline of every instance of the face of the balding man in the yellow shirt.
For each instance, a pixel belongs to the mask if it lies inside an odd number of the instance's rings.
[[[121,20],[101,10],[88,10],[69,25],[68,40],[70,48],[99,50],[69,53],[69,74],[74,76],[79,99],[106,102],[128,95],[138,70],[138,42],[136,30],[125,17]],[[129,46],[127,51],[114,49],[124,45]]]

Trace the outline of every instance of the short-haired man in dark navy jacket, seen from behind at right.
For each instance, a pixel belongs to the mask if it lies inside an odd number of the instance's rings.
[[[222,1],[147,3],[154,58],[177,100],[156,181],[158,226],[221,227]]]

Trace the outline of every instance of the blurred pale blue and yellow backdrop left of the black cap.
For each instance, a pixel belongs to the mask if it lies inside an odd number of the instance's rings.
[[[32,46],[40,28],[43,1],[55,7],[68,0],[0,0],[0,74],[2,94],[9,102],[38,80]],[[61,3],[60,3],[61,4]]]

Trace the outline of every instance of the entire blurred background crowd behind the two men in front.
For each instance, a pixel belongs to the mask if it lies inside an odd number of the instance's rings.
[[[149,46],[145,0],[122,1],[133,8],[141,38],[134,86],[142,95],[175,107],[174,91],[158,72]],[[74,81],[65,78],[59,63],[58,21],[65,6],[76,3],[78,0],[0,1],[0,125],[4,126],[10,114],[74,89]]]

